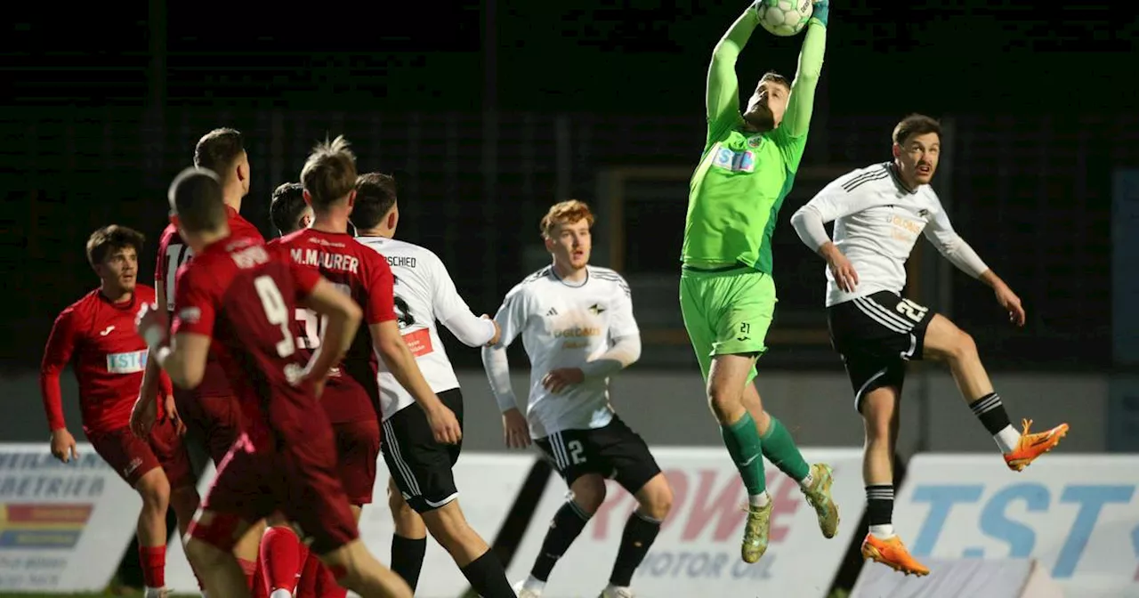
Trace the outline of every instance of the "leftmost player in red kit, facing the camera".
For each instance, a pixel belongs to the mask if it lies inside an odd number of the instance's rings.
[[[88,239],[87,259],[101,282],[56,318],[43,351],[40,391],[51,428],[51,454],[68,462],[76,454],[75,439],[64,420],[59,374],[74,362],[83,432],[95,451],[142,497],[139,560],[150,598],[166,596],[166,509],[174,508],[185,532],[197,508],[197,493],[191,485],[192,494],[171,494],[170,480],[190,475],[173,420],[158,418],[142,439],[130,429],[131,406],[147,363],[146,343],[134,334],[134,316],[155,300],[153,288],[136,282],[142,241],[141,234],[115,224]],[[162,376],[151,392],[170,398],[170,378]],[[149,403],[157,406],[153,398]]]

